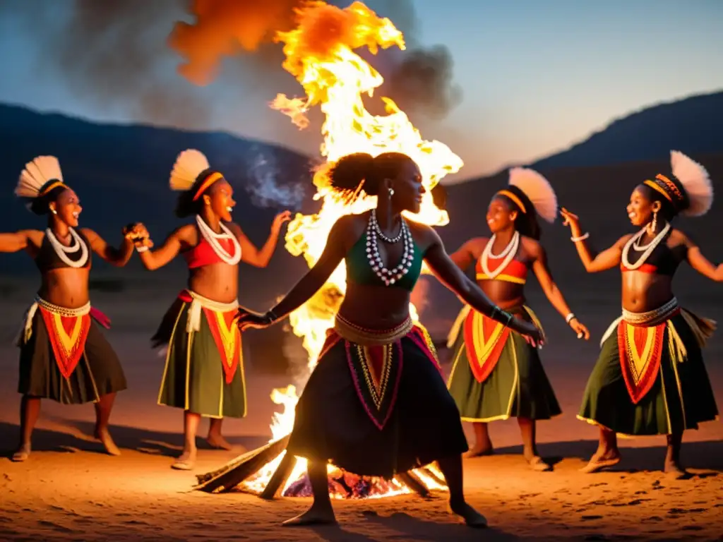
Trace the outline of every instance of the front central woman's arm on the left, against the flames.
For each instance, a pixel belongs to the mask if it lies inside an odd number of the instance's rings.
[[[329,232],[326,246],[321,257],[306,275],[291,288],[286,296],[268,313],[272,322],[278,322],[301,305],[309,301],[329,280],[329,277],[346,255],[346,221],[351,217],[342,217],[336,221]]]

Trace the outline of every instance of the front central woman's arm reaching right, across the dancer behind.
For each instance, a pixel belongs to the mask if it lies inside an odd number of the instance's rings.
[[[437,232],[429,228],[428,235],[432,236],[432,243],[429,244],[427,251],[424,253],[424,261],[427,262],[432,273],[442,284],[460,296],[472,309],[497,320],[497,322],[508,325],[511,329],[523,335],[536,331],[527,322],[513,318],[493,304],[480,290],[479,286],[469,280],[464,272],[450,259]]]

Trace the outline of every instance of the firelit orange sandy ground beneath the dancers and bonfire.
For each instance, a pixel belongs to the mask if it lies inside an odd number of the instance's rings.
[[[107,304],[103,308],[108,308]],[[698,307],[695,307],[698,309]],[[588,314],[596,337],[582,345],[562,327],[548,327],[543,361],[564,414],[539,426],[542,454],[556,457],[555,472],[531,473],[518,456],[515,421],[497,422],[492,436],[498,454],[466,460],[469,501],[489,520],[475,531],[446,512],[445,496],[416,495],[337,502],[339,528],[281,528],[308,499],[265,502],[234,493],[192,491],[194,473],[205,472],[236,454],[200,451],[193,473],[171,470],[181,448],[181,413],[155,403],[162,363],[147,339],[163,307],[137,312],[117,309],[108,332],[127,371],[129,390],[116,401],[112,418],[121,457],[104,455],[90,438],[93,408],[47,402],[26,463],[7,456],[17,439],[17,350],[8,345],[12,320],[22,307],[3,303],[0,322],[0,540],[2,541],[446,541],[446,540],[612,540],[723,538],[723,426],[701,426],[685,435],[683,460],[695,475],[669,481],[662,465],[662,438],[621,441],[624,461],[615,472],[578,472],[596,447],[594,427],[576,421],[578,403],[597,352],[596,341],[615,308]],[[710,307],[702,314],[720,317]],[[589,309],[590,311],[592,309]],[[122,316],[127,314],[128,316]],[[554,321],[547,309],[543,322]],[[132,318],[130,318],[132,316]],[[559,319],[559,317],[557,317]],[[147,328],[140,332],[138,328]],[[723,334],[706,351],[716,396],[723,402]],[[249,418],[228,421],[229,440],[246,447],[266,442],[275,405],[269,393],[288,377],[249,371]],[[205,428],[204,428],[205,429]],[[469,428],[467,428],[469,429]]]

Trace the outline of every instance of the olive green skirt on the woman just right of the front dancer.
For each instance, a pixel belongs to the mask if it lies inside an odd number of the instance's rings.
[[[526,307],[517,311],[536,323]],[[447,382],[463,421],[549,420],[562,413],[538,349],[522,335],[466,307],[450,333]]]

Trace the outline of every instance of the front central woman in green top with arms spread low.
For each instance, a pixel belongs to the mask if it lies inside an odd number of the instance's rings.
[[[476,310],[533,341],[539,340],[539,330],[493,305],[449,259],[432,228],[401,216],[419,212],[424,194],[419,167],[407,155],[346,155],[317,174],[350,202],[362,191],[377,196],[377,207],[340,218],[318,262],[273,309],[239,311],[241,330],[279,322],[346,262],[346,295],[299,398],[287,448],[309,460],[314,504],[285,525],[336,521],[328,493],[329,461],[359,476],[391,478],[435,460],[450,488],[453,512],[469,525],[485,525],[463,495],[461,454],[467,442],[459,411],[432,341],[409,315],[409,295],[422,260]]]

